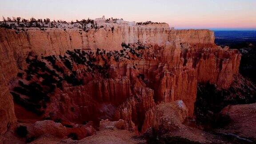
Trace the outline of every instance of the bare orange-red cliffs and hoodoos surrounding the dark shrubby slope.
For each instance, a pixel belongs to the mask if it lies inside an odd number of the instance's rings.
[[[165,25],[138,27],[120,24],[115,24],[113,30],[104,27],[89,32],[80,29],[47,28],[41,31],[28,28],[25,32],[16,33],[0,28],[0,80],[6,82],[0,83],[3,89],[0,104],[7,107],[0,110],[0,119],[15,124],[7,84],[16,78],[20,69],[26,69],[28,64],[25,59],[30,52],[38,56],[63,56],[67,50],[74,48],[91,49],[92,52],[96,52],[96,48],[104,48],[107,52],[120,51],[123,42],[132,45],[138,41],[149,47],[143,50],[142,58],[131,54],[132,59],[129,60],[116,62],[111,58],[108,60],[108,78],[82,76],[86,67],[81,64],[74,66],[72,71],[83,77],[84,84],[64,84],[62,90],[51,95],[51,103],[47,104],[44,116],[54,112],[55,117],[77,123],[123,119],[125,129],[141,132],[147,128],[143,126],[147,121],[145,113],[156,104],[183,100],[188,108],[188,116],[192,116],[197,82],[209,81],[221,88],[228,88],[232,76],[238,73],[238,51],[216,46],[213,32],[209,30],[173,30]],[[102,57],[96,58],[99,64],[104,63]],[[65,70],[65,73],[72,71]],[[6,99],[6,96],[9,98]],[[1,123],[1,132],[7,130],[6,121]]]

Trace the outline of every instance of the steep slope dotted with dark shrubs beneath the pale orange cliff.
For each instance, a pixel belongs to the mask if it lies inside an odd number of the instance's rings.
[[[133,60],[135,58],[142,59],[141,51],[147,48],[141,44],[132,48],[125,43],[122,44],[122,47],[120,52],[106,52],[106,50],[97,48],[94,53],[74,49],[73,51],[68,50],[64,56],[39,57],[30,52],[26,59],[28,68],[23,73],[18,73],[17,85],[12,88],[13,99],[16,104],[40,116],[44,114],[51,95],[55,91],[62,90],[63,84],[82,85],[83,77],[87,75],[109,78],[109,61],[130,60],[131,56],[134,57]],[[77,73],[77,67],[84,69],[82,73]],[[144,80],[143,75],[140,78]]]

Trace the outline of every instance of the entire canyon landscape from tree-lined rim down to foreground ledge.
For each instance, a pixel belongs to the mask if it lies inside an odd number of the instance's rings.
[[[0,26],[3,144],[256,142],[253,45],[104,17]]]

